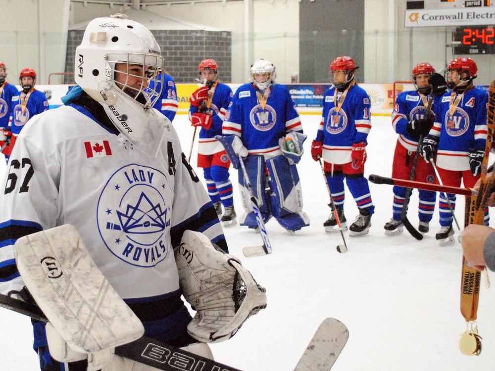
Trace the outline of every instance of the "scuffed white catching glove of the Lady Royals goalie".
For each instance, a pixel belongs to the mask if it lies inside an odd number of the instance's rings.
[[[266,307],[265,289],[239,259],[215,249],[204,234],[184,232],[175,261],[184,297],[197,311],[188,325],[195,339],[230,339],[249,316]]]

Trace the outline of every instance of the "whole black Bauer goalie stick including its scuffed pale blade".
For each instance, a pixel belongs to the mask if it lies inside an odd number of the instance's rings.
[[[0,294],[0,307],[47,322],[37,305]],[[326,318],[302,354],[295,371],[329,371],[347,343],[347,327]],[[146,336],[115,348],[115,354],[164,371],[241,371]]]

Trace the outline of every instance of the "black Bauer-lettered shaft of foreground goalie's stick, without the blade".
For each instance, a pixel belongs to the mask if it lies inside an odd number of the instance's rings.
[[[0,307],[47,322],[38,306],[0,294]],[[115,348],[115,354],[163,371],[241,371],[146,336]]]

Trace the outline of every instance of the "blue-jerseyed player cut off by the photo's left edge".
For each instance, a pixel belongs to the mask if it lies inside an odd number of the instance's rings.
[[[8,161],[8,156],[12,151],[11,139],[12,132],[8,127],[8,121],[10,118],[11,106],[10,102],[12,96],[18,93],[17,88],[12,84],[5,81],[7,77],[7,67],[5,63],[0,62],[0,148],[1,152],[5,154],[5,159]]]

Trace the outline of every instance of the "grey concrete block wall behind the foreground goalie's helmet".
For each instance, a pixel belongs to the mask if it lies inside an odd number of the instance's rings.
[[[165,70],[176,83],[195,82],[198,64],[202,59],[213,58],[219,66],[219,79],[232,81],[232,33],[227,31],[153,30],[151,31],[165,59]],[[81,44],[84,31],[71,30],[67,36],[65,72],[74,72],[76,47]],[[72,76],[65,84],[74,84]]]

